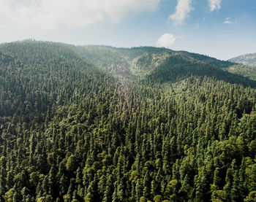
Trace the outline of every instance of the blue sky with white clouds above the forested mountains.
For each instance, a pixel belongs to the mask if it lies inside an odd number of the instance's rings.
[[[0,43],[24,39],[228,60],[256,53],[256,0],[0,0]]]

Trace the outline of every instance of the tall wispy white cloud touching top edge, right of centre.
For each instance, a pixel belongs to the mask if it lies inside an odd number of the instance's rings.
[[[169,16],[169,20],[173,20],[174,25],[181,25],[192,11],[192,0],[178,0],[176,12]]]

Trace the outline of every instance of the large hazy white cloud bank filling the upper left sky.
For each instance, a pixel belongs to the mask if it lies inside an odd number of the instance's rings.
[[[84,27],[129,12],[154,12],[160,0],[0,0],[0,27],[53,30]]]

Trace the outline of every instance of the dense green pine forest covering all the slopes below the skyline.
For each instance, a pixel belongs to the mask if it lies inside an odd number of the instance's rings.
[[[0,201],[256,201],[255,69],[0,44]]]

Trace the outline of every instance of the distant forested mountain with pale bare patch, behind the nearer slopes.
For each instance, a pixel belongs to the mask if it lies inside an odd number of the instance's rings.
[[[117,77],[176,82],[191,75],[215,77],[232,83],[255,86],[255,74],[239,71],[236,63],[184,51],[157,47],[116,48],[104,46],[78,47],[78,51],[100,69]],[[230,72],[229,72],[230,71]],[[250,71],[248,71],[249,73]],[[235,74],[233,74],[235,73]],[[250,72],[252,73],[252,72]],[[249,76],[248,79],[241,76]]]

